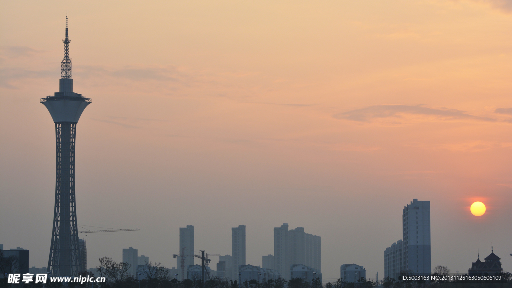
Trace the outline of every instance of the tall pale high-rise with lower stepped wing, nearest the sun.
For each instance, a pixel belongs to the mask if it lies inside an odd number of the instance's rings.
[[[393,244],[384,253],[385,277],[398,273],[432,273],[430,201],[414,199],[403,209],[403,240]]]

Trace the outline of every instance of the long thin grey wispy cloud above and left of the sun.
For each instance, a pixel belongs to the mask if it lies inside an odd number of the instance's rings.
[[[433,109],[422,106],[377,105],[334,115],[336,119],[358,122],[372,122],[377,119],[396,118],[397,121],[407,120],[407,116],[435,117],[439,120],[477,120],[495,122],[496,119],[467,114],[455,109]],[[395,122],[395,124],[402,124]]]

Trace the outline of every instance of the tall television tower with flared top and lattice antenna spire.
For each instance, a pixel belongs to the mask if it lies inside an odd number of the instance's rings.
[[[76,124],[91,99],[73,92],[71,59],[69,57],[68,16],[64,59],[60,72],[60,89],[55,96],[41,99],[55,122],[57,140],[57,177],[55,181],[55,212],[53,216],[52,246],[48,272],[53,277],[77,276],[85,270],[80,267],[80,246],[76,221],[75,145]]]

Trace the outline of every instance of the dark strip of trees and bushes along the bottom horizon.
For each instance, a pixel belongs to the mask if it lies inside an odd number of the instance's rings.
[[[99,275],[83,272],[81,277],[105,277],[106,282],[103,283],[50,283],[47,284],[30,283],[30,284],[9,284],[8,279],[4,278],[0,281],[0,288],[4,287],[23,287],[23,288],[39,288],[39,287],[83,287],[83,288],[512,288],[512,274],[501,273],[503,280],[501,282],[472,282],[472,281],[455,281],[455,282],[397,282],[394,279],[386,278],[379,281],[378,285],[375,281],[368,281],[361,278],[357,283],[347,283],[342,279],[336,282],[323,284],[320,279],[314,279],[307,282],[303,279],[292,280],[245,280],[239,285],[238,281],[228,280],[226,278],[212,277],[203,283],[202,277],[194,274],[193,279],[179,281],[170,276],[169,270],[161,263],[146,263],[139,275],[144,276],[144,280],[137,280],[129,274],[131,265],[127,263],[117,263],[109,257],[99,259],[100,264],[96,267]],[[439,268],[439,266],[438,266]],[[437,269],[437,268],[436,268]],[[79,276],[79,277],[80,277]],[[50,278],[50,277],[49,277]]]

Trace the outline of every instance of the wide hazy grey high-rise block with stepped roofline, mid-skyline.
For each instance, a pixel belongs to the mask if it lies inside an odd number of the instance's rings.
[[[290,280],[291,265],[303,264],[322,272],[322,238],[304,228],[289,230],[288,224],[274,228],[274,269]]]

